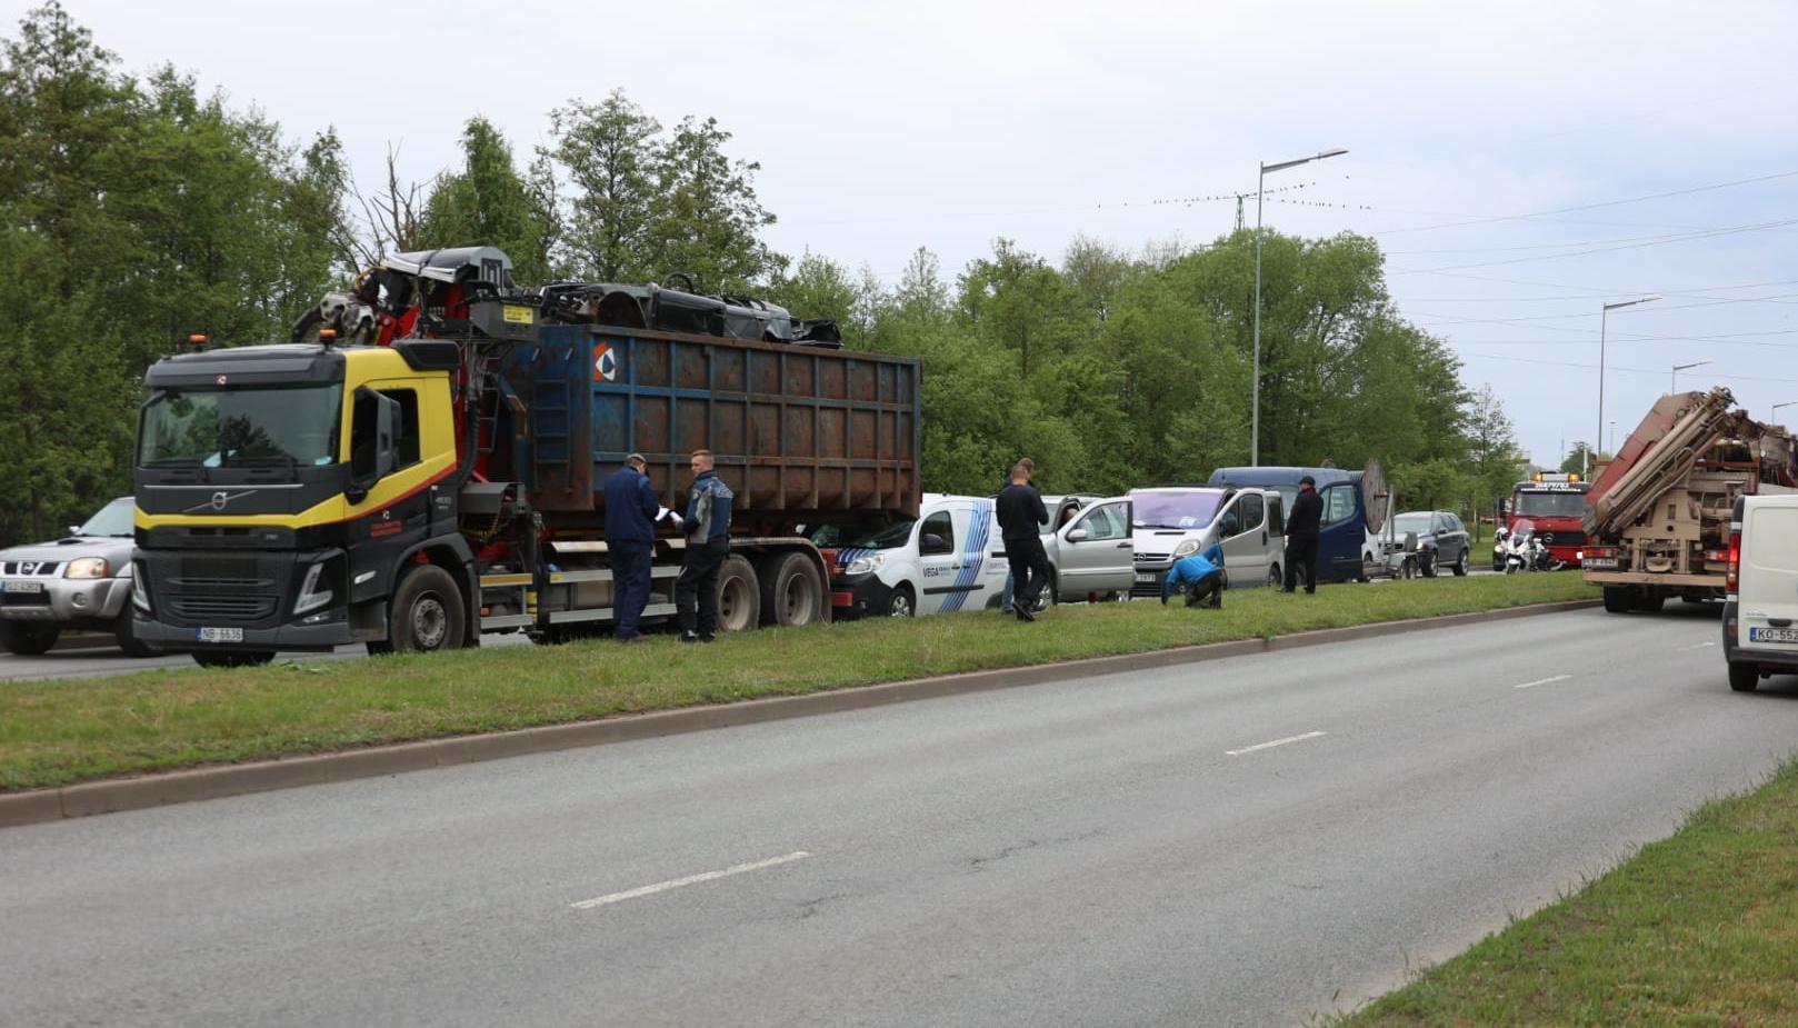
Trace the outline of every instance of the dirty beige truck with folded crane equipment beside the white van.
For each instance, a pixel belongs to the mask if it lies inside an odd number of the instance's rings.
[[[1798,485],[1791,433],[1731,403],[1722,386],[1663,395],[1598,473],[1579,559],[1586,580],[1604,588],[1604,609],[1722,600],[1735,500]]]

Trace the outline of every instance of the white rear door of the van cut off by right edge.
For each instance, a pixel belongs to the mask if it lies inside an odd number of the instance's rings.
[[[1798,661],[1798,496],[1742,503],[1735,631],[1742,651]]]

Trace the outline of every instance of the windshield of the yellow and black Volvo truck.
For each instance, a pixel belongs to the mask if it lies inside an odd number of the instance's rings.
[[[162,390],[144,404],[142,467],[336,464],[342,385]]]

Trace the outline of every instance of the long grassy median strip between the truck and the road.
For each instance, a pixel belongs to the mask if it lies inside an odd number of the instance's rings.
[[[1066,606],[1034,625],[989,611],[712,645],[658,636],[4,683],[0,791],[1595,595],[1573,573],[1442,577],[1314,597],[1232,591],[1221,611]]]

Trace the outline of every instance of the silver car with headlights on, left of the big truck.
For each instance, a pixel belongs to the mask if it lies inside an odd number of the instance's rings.
[[[128,656],[147,656],[131,636],[131,519],[120,496],[67,539],[0,550],[0,645],[36,656],[63,629],[111,633]]]

